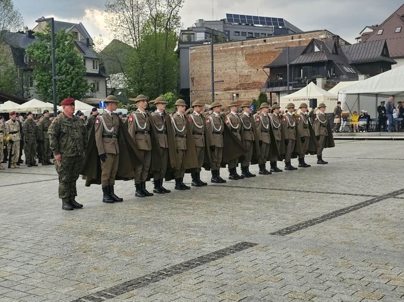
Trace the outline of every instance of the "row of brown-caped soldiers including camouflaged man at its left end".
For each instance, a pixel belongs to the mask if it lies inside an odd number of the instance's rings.
[[[202,115],[205,104],[199,101],[187,110],[184,100],[178,99],[176,112],[170,116],[163,97],[154,100],[156,110],[151,114],[146,111],[148,99],[144,95],[130,100],[138,109],[128,115],[125,124],[114,113],[118,100],[109,95],[105,99],[105,112],[95,117],[88,141],[87,132],[73,115],[74,99],[63,100],[63,115],[49,128],[62,209],[82,208],[75,200],[79,174],[86,186],[101,185],[102,202],[116,203],[123,201],[115,194],[116,180],[134,180],[135,195],[147,197],[170,193],[163,186],[164,180],[174,179],[176,190],[189,190],[184,183],[185,173],[191,174],[191,186],[206,186],[200,179],[202,168],[211,170],[212,183],[225,183],[220,169],[226,165],[229,179],[239,180],[255,177],[250,165],[256,163],[259,174],[264,175],[281,172],[277,162],[282,160],[286,170],[296,170],[291,165],[291,159],[296,157],[299,167],[309,167],[304,160],[306,154],[317,154],[317,163],[326,164],[322,151],[334,146],[324,104],[318,106],[320,113],[311,126],[306,104],[301,104],[297,116],[295,105],[288,104],[288,112],[281,117],[278,105],[270,107],[263,103],[261,113],[254,118],[249,102],[240,106],[241,116],[237,114],[237,102],[231,102],[226,117],[220,115],[222,105],[214,102],[210,106],[213,112],[206,118]],[[270,108],[272,113],[268,114]],[[268,161],[270,170],[266,169]],[[146,188],[151,178],[153,193]]]

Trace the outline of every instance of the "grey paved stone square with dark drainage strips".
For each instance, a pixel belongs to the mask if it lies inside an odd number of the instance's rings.
[[[0,171],[0,301],[404,301],[403,149],[339,140],[328,165],[150,198],[118,182],[111,205],[80,179],[74,211],[53,166]]]

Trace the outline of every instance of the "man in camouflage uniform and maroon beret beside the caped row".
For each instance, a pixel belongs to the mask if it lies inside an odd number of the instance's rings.
[[[74,98],[64,99],[61,105],[63,113],[52,121],[52,127],[48,130],[59,175],[59,198],[62,199],[63,210],[80,209],[83,205],[75,200],[76,181],[87,147],[87,133],[82,122],[74,115]]]

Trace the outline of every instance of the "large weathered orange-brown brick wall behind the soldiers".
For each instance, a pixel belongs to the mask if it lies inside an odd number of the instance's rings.
[[[276,47],[307,45],[313,38],[325,40],[332,36],[332,33],[322,30],[215,44],[213,48],[215,81],[224,81],[215,84],[215,100],[226,105],[232,100],[232,93],[238,93],[239,97],[235,99],[240,104],[258,98],[267,79],[262,67],[275,60],[282,51],[275,49]],[[341,42],[343,44],[345,41]],[[211,103],[210,60],[210,45],[190,48],[191,102],[201,100],[207,104]],[[265,71],[268,72],[267,69]],[[276,94],[273,93],[272,96],[275,102]]]

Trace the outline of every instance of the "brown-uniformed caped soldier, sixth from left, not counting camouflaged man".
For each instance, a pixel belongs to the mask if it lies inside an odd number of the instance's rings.
[[[207,139],[211,150],[211,170],[212,183],[226,183],[220,177],[220,166],[223,157],[223,132],[225,132],[225,123],[220,117],[221,104],[213,102],[210,109],[213,110],[212,115],[206,119]]]

